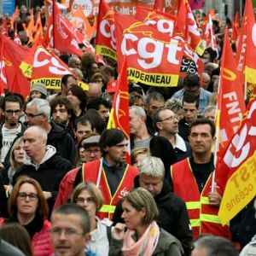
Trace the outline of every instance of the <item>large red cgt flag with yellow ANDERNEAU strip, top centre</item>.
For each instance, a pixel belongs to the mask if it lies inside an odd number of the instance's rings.
[[[128,77],[154,86],[177,86],[183,42],[125,15],[115,15],[119,63]],[[119,67],[120,68],[120,67]]]

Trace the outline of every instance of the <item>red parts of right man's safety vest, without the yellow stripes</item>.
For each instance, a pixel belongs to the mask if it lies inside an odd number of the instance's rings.
[[[207,180],[201,194],[195,181],[194,174],[189,166],[189,158],[181,160],[172,166],[172,183],[174,193],[180,196],[185,202],[201,201],[201,196],[208,197],[211,192],[212,175]],[[207,204],[201,204],[201,208],[189,209],[189,219],[198,219],[200,214],[211,214],[218,216],[218,207],[211,207]],[[201,226],[193,227],[193,238],[201,234],[212,234],[214,236],[223,236],[231,239],[228,226],[215,224],[212,222],[201,221]]]

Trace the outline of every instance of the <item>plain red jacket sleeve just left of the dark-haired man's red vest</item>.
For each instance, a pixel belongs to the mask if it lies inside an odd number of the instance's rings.
[[[77,173],[79,172],[79,168],[80,167],[77,167],[67,172],[67,174],[62,178],[54,209],[67,203],[67,199],[73,191],[73,183],[75,181]]]

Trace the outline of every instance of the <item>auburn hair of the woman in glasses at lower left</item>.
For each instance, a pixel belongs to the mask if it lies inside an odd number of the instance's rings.
[[[9,196],[9,201],[8,201],[9,217],[15,218],[17,216],[17,212],[18,212],[17,196],[18,196],[21,185],[23,185],[24,183],[32,184],[35,187],[35,189],[37,190],[37,193],[38,193],[38,209],[37,209],[38,216],[41,218],[47,218],[49,209],[48,209],[47,201],[44,198],[43,190],[41,189],[41,186],[35,179],[33,179],[32,177],[27,177],[27,176],[20,176],[18,178],[18,180],[15,183],[15,186],[12,190],[12,193]]]

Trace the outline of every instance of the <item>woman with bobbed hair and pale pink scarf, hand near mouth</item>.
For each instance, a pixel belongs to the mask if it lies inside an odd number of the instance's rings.
[[[123,198],[125,224],[116,224],[110,243],[110,256],[179,256],[180,242],[155,222],[158,208],[148,190],[138,188]]]

